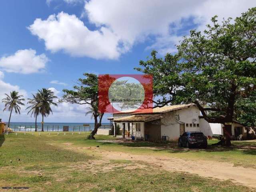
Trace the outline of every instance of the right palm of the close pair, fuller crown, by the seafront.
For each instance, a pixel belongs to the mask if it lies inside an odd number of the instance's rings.
[[[44,117],[47,117],[52,113],[51,105],[58,106],[53,102],[57,97],[54,96],[54,92],[46,88],[42,88],[42,90],[38,91],[40,97],[39,112],[42,115],[42,122],[44,122]],[[44,124],[42,124],[42,131],[44,131]]]

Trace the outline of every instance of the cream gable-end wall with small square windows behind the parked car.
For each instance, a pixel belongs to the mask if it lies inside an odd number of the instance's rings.
[[[195,106],[183,108],[161,114],[161,137],[168,136],[169,140],[178,140],[180,136],[180,124],[185,124],[185,131],[200,131],[200,111]],[[176,121],[179,117],[178,122]],[[188,124],[188,126],[186,126]],[[189,125],[192,124],[192,127]],[[194,127],[193,124],[199,124]]]

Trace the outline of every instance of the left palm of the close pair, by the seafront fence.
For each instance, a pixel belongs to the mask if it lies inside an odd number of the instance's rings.
[[[29,109],[28,114],[31,113],[31,117],[32,115],[34,115],[34,117],[37,120],[37,116],[40,113],[40,94],[37,93],[36,95],[32,94],[33,98],[30,99],[28,98],[28,104],[30,104],[30,106],[28,106],[26,108],[26,110]],[[37,131],[37,125],[35,126],[35,131]]]

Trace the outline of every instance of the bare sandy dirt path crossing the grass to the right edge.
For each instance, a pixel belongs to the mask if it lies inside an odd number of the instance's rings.
[[[205,160],[184,160],[180,158],[155,157],[146,155],[134,155],[122,152],[100,151],[104,158],[109,160],[135,160],[153,164],[168,171],[181,171],[198,174],[202,177],[212,177],[221,180],[230,179],[234,183],[256,188],[256,169],[234,167],[225,162],[213,162]]]

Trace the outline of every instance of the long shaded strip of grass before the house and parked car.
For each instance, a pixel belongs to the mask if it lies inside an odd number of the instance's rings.
[[[226,151],[241,151],[242,154],[250,154],[256,155],[256,144],[255,143],[233,143],[230,147],[225,146],[215,146],[212,145],[217,143],[218,141],[209,141],[207,148],[185,148],[185,147],[178,147],[176,143],[153,143],[153,142],[102,142],[103,145],[118,145],[118,146],[125,146],[131,148],[145,148],[151,149],[152,151],[166,151],[169,153],[188,153],[188,152],[226,152]]]

